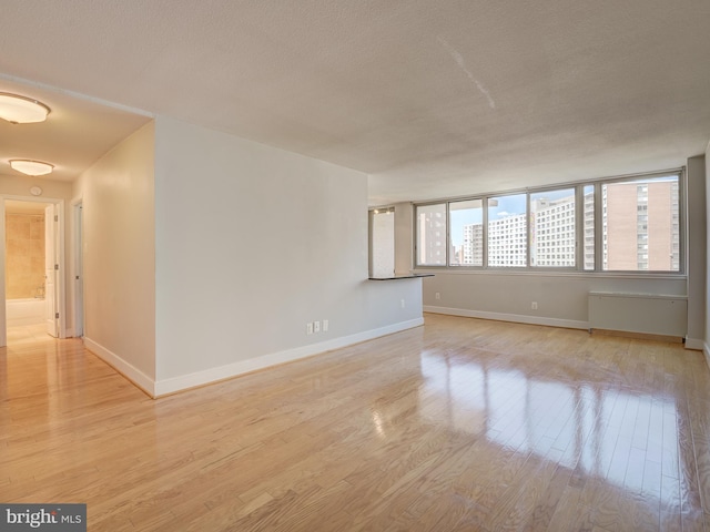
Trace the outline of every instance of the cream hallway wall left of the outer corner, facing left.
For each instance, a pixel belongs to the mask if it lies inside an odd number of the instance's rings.
[[[151,392],[155,377],[154,124],[125,139],[85,171],[84,339]]]

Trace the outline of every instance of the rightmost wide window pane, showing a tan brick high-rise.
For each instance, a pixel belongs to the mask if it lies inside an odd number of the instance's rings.
[[[602,270],[680,270],[678,185],[678,175],[601,185]]]

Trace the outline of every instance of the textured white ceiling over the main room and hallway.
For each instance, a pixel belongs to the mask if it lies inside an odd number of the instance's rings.
[[[710,140],[708,0],[10,0],[0,50],[0,91],[361,170],[372,204],[678,167]],[[0,172],[21,155],[71,178],[99,132],[146,120],[64,98],[82,120],[53,113],[51,142],[0,129]]]

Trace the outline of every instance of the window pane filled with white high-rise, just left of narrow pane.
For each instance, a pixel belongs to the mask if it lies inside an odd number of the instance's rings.
[[[530,266],[574,268],[575,225],[575,188],[530,194]]]

